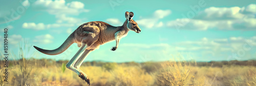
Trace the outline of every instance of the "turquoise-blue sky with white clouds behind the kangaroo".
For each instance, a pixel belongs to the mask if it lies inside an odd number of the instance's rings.
[[[256,1],[249,0],[1,1],[0,27],[2,33],[9,29],[10,51],[17,55],[18,43],[25,40],[28,45],[56,49],[83,23],[121,26],[125,11],[134,12],[142,32],[130,31],[116,51],[110,50],[114,41],[100,46],[85,61],[256,59]],[[3,45],[0,48],[3,52]],[[78,49],[73,44],[50,56],[32,47],[26,57],[70,60]]]

